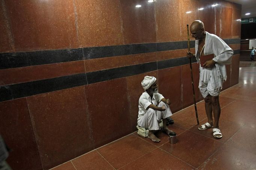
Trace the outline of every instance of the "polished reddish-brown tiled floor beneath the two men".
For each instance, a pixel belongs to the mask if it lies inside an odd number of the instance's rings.
[[[245,67],[247,66],[247,67]],[[255,170],[256,169],[256,67],[242,63],[239,84],[220,94],[221,139],[212,129],[199,131],[194,106],[175,113],[169,128],[178,136],[170,144],[159,132],[160,143],[136,132],[75,158],[53,170]],[[197,103],[200,123],[207,121],[204,102]]]

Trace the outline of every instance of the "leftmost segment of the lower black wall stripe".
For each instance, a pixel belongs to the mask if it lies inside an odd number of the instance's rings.
[[[76,74],[33,82],[0,86],[0,101],[57,91],[66,88],[86,85],[86,74]]]

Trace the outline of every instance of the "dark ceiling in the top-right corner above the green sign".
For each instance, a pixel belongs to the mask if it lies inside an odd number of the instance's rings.
[[[256,17],[256,1],[255,0],[227,0],[227,1],[242,4],[241,18]],[[245,15],[245,13],[251,13],[251,14]]]

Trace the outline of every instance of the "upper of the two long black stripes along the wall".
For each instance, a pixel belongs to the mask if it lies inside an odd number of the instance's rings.
[[[240,43],[240,39],[224,39],[227,44]],[[194,48],[194,41],[190,42]],[[117,46],[59,49],[49,51],[0,53],[0,69],[62,63],[120,55],[141,54],[155,51],[186,49],[187,41],[144,43]]]

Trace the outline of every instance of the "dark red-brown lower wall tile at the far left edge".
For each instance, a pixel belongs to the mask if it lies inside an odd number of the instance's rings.
[[[7,159],[12,169],[42,170],[26,98],[0,102],[0,132],[12,149]]]

